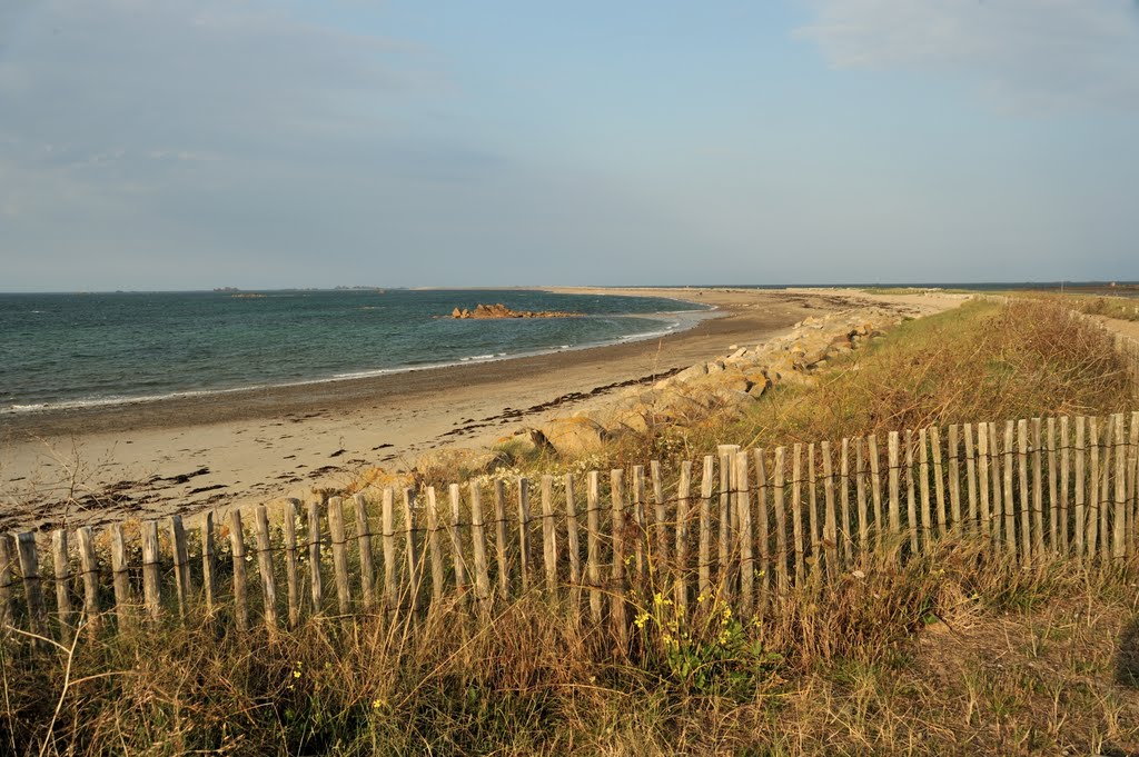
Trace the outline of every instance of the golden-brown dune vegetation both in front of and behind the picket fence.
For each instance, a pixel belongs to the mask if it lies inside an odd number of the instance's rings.
[[[744,413],[623,437],[518,472],[696,459],[929,423],[1131,409],[1111,340],[1056,304],[969,303],[780,384]],[[487,617],[325,618],[237,633],[169,617],[74,647],[0,644],[0,751],[68,754],[1105,754],[1139,751],[1139,558],[1031,567],[951,534],[679,619],[632,596],[628,653],[580,598]],[[818,575],[818,574],[816,574]],[[173,614],[171,614],[173,615]],[[683,626],[683,633],[680,628]]]

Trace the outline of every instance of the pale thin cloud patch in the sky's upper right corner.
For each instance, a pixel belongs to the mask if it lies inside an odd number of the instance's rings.
[[[964,73],[1014,107],[1139,101],[1134,0],[808,0],[838,68]]]

